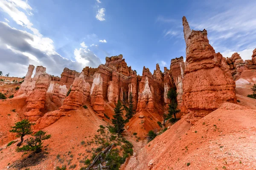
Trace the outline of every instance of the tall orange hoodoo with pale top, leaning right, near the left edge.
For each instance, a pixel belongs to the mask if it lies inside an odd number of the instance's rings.
[[[45,69],[42,66],[37,67],[37,70],[41,69],[41,74],[37,74],[37,81],[35,82],[35,89],[32,91],[32,93],[28,96],[26,99],[27,112],[24,113],[24,116],[26,119],[29,119],[29,121],[36,121],[42,116],[41,110],[45,107],[45,101],[46,101],[46,92],[49,87],[51,77],[49,74],[45,72]]]

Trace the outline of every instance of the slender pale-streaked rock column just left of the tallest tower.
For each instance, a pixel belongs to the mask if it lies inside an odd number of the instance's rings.
[[[185,70],[183,57],[172,59],[170,70],[172,73],[172,79],[174,80],[174,83],[175,83],[175,87],[177,88],[177,102],[178,102],[178,108],[180,109],[181,103],[182,103],[182,94],[183,94],[182,79],[184,78],[184,70]]]

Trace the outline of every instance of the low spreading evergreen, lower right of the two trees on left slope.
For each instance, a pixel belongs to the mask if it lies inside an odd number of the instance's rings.
[[[16,150],[17,152],[21,151],[35,151],[35,153],[41,152],[41,148],[43,147],[42,140],[49,139],[51,135],[45,135],[46,132],[39,130],[37,133],[33,135],[33,137],[30,137],[29,139],[25,140],[26,145],[23,147],[18,147]]]

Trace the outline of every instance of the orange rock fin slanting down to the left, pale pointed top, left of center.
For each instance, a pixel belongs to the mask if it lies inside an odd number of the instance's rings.
[[[64,99],[60,111],[76,110],[90,98],[90,84],[84,80],[84,72],[76,77],[70,94]]]

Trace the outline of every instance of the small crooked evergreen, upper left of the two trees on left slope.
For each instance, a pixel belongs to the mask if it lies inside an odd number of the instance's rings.
[[[17,133],[16,137],[20,137],[20,142],[17,143],[17,146],[20,146],[23,142],[23,137],[25,135],[32,134],[31,125],[35,125],[34,123],[30,123],[28,120],[23,119],[20,122],[15,123],[15,126],[12,127],[10,132]]]

